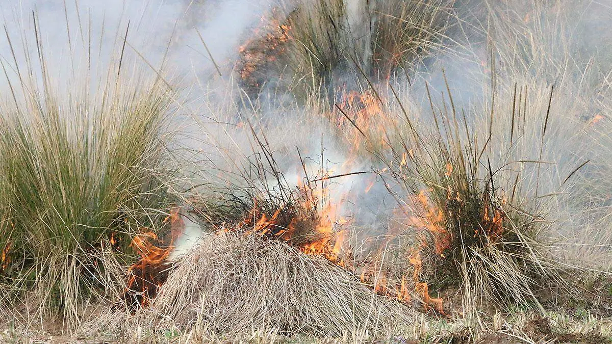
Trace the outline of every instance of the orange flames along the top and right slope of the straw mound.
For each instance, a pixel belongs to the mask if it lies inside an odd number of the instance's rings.
[[[318,179],[324,181],[328,174],[324,173],[323,176],[319,174]],[[368,184],[365,191],[370,190],[372,185],[373,183]],[[313,190],[304,184],[300,184],[298,189],[302,192],[301,208],[316,209],[316,205],[319,204],[321,198],[329,200],[329,195],[326,195],[324,190]],[[428,230],[439,233],[440,237],[446,234],[442,227],[444,216],[441,211],[430,205],[425,192],[417,198],[417,204],[420,204],[424,209],[424,220],[420,223]],[[442,299],[431,297],[427,283],[419,280],[422,261],[418,250],[409,257],[413,266],[411,277],[402,276],[401,279],[397,279],[397,277],[391,277],[385,272],[377,272],[376,266],[356,268],[355,262],[352,261],[351,252],[347,249],[348,245],[346,245],[346,237],[348,236],[346,225],[350,221],[338,214],[339,209],[338,204],[328,201],[323,209],[316,212],[316,219],[307,215],[295,214],[291,214],[291,219],[285,219],[283,214],[285,209],[277,209],[274,214],[267,215],[258,210],[255,202],[252,210],[242,222],[229,228],[220,227],[217,231],[218,233],[239,232],[244,235],[284,241],[306,255],[322,256],[337,266],[357,273],[360,282],[378,295],[390,297],[411,306],[414,301],[418,301],[426,310],[436,310],[444,314]],[[442,254],[443,249],[440,249],[439,252]]]

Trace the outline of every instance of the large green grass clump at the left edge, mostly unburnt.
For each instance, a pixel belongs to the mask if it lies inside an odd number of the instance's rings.
[[[11,88],[23,97],[0,104],[0,302],[28,290],[37,312],[69,325],[121,280],[130,238],[168,207],[166,86],[116,77],[90,93],[82,80],[69,92],[48,76],[21,81]]]

